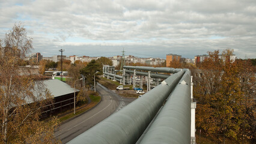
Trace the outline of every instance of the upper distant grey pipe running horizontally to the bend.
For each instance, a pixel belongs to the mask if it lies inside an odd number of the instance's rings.
[[[155,71],[160,73],[178,73],[181,71],[181,68],[166,68],[166,67],[141,67],[141,66],[124,66],[126,69],[130,70],[144,70],[144,71]]]

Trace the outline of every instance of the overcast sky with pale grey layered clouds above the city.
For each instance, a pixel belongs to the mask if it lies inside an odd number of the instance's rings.
[[[255,0],[0,0],[0,20],[0,38],[22,22],[43,56],[256,58]]]

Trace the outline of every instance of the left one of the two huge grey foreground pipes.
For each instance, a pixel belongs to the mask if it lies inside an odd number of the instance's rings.
[[[184,71],[172,74],[143,97],[75,137],[69,143],[135,143],[183,74]]]

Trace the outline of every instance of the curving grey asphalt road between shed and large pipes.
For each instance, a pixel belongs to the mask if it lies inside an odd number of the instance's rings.
[[[96,107],[69,122],[61,124],[58,131],[55,131],[55,137],[61,140],[62,143],[69,142],[103,119],[108,118],[112,113],[136,100],[136,98],[120,97],[115,94],[115,91],[110,91],[99,83],[97,84],[97,92],[102,96],[102,101]]]

